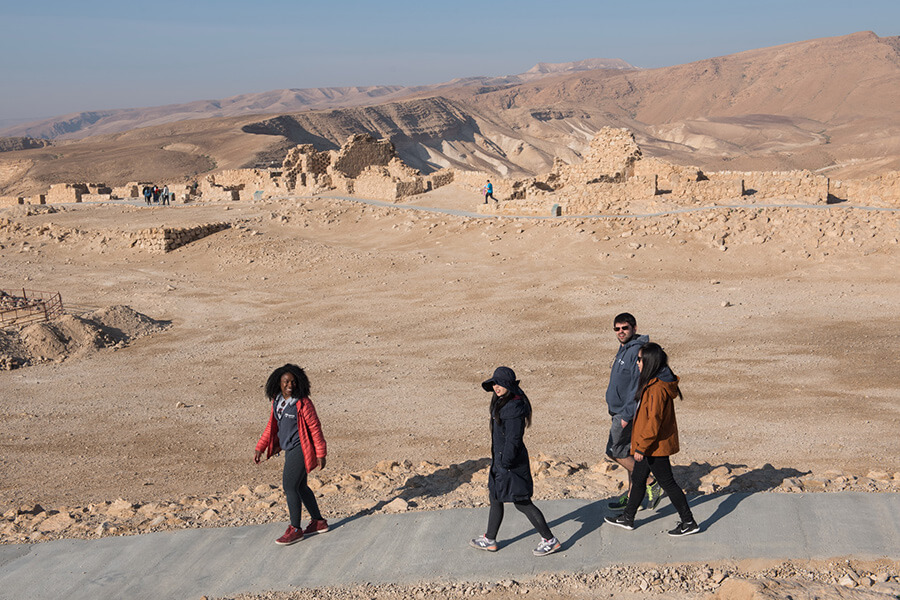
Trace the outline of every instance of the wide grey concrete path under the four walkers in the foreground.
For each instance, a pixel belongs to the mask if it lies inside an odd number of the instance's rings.
[[[286,523],[0,546],[0,597],[198,599],[298,586],[499,581],[645,562],[900,560],[900,494],[700,496],[691,505],[701,532],[683,538],[665,533],[677,521],[665,498],[655,513],[638,513],[634,531],[603,522],[607,502],[538,502],[563,542],[540,558],[531,554],[537,534],[511,506],[496,553],[468,546],[483,533],[487,508],[352,517],[287,547],[274,544]]]

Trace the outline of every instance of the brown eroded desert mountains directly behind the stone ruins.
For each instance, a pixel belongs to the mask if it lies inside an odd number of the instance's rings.
[[[587,63],[586,66],[589,66]],[[501,175],[580,160],[601,127],[627,127],[644,153],[705,170],[814,169],[861,177],[900,169],[900,38],[823,38],[652,70],[601,68],[516,81],[460,80],[401,100],[280,115],[195,119],[0,154],[0,194],[60,181],[196,177],[280,163],[350,134],[389,139],[424,171]],[[379,100],[385,100],[381,97]]]

